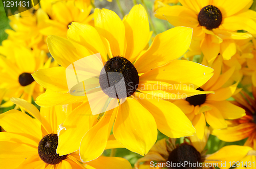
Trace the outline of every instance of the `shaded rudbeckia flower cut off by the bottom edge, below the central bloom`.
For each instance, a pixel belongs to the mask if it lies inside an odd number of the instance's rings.
[[[142,168],[207,168],[203,166],[206,157],[206,146],[209,137],[209,130],[205,128],[203,139],[199,139],[197,135],[185,137],[184,143],[176,144],[175,138],[161,139],[155,143],[150,152],[144,157],[138,159],[135,163],[136,169]],[[186,140],[188,139],[189,142]],[[197,163],[197,167],[184,166],[186,162]],[[170,166],[172,163],[172,166]],[[177,166],[180,165],[181,166]],[[201,163],[201,164],[199,164]],[[176,166],[175,166],[176,165]],[[191,164],[190,164],[191,165]]]

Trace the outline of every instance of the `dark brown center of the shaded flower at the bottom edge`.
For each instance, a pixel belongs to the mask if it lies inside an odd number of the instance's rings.
[[[199,164],[197,164],[197,167],[194,167],[196,163],[201,161],[201,155],[200,153],[191,145],[189,144],[182,144],[178,148],[174,149],[172,152],[170,152],[168,160],[169,162],[173,163],[173,167],[168,168],[177,168],[177,169],[192,169],[192,168],[198,168]],[[190,166],[184,165],[185,162],[191,163]],[[179,167],[175,164],[183,164],[183,166]],[[193,166],[194,164],[194,166]]]

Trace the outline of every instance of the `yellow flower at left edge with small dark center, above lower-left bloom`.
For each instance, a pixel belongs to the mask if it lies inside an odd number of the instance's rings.
[[[25,46],[0,46],[0,88],[5,89],[3,99],[6,101],[0,107],[10,107],[11,97],[22,98],[28,102],[35,100],[45,89],[35,82],[31,76],[39,68],[58,66],[51,62],[44,51],[27,49]],[[3,56],[4,55],[4,56]]]

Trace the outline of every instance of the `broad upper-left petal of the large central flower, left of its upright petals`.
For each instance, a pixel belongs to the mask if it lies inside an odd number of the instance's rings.
[[[47,44],[52,57],[63,67],[93,54],[78,43],[54,35],[48,36]]]

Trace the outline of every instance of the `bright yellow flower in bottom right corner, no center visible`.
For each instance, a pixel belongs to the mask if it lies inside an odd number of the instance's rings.
[[[247,146],[225,146],[207,156],[206,160],[208,163],[218,163],[221,169],[230,167],[254,169],[256,167],[256,151]]]

